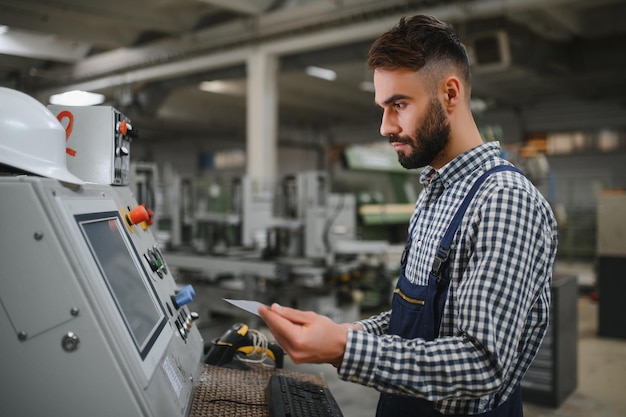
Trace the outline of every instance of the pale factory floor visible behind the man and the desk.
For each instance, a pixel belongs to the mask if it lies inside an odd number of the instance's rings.
[[[569,265],[585,286],[588,268]],[[568,265],[565,265],[568,267]],[[581,272],[583,271],[583,272]],[[588,275],[588,274],[587,274]],[[234,319],[237,321],[237,319]],[[232,321],[232,320],[231,320]],[[254,324],[250,323],[250,326]],[[559,407],[524,402],[525,417],[624,417],[626,416],[626,340],[598,337],[598,302],[581,291],[578,298],[578,385]],[[218,337],[224,323],[203,331],[205,342]],[[220,332],[220,333],[216,333]],[[344,417],[374,416],[378,392],[341,381],[330,365],[295,365],[286,358],[285,368],[322,374]]]

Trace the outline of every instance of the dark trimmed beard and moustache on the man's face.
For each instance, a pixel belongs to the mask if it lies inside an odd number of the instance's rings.
[[[411,147],[406,155],[398,151],[398,162],[406,169],[423,168],[443,151],[450,142],[450,124],[446,120],[446,112],[441,103],[432,98],[423,120],[415,129],[413,138],[389,136],[389,143],[404,143]]]

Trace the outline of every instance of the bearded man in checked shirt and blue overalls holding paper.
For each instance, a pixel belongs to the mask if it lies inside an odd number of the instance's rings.
[[[451,26],[403,18],[368,63],[381,134],[405,168],[425,167],[392,309],[353,324],[277,304],[259,312],[294,362],[328,362],[341,379],[381,391],[378,416],[521,416],[520,381],[548,324],[550,207],[520,173],[487,176],[438,275],[450,283],[438,287],[435,255],[462,200],[483,173],[510,164],[481,139]]]

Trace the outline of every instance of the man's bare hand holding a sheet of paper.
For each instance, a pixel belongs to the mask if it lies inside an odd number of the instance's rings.
[[[295,363],[341,364],[348,341],[348,328],[326,316],[272,304],[259,307],[278,344]]]

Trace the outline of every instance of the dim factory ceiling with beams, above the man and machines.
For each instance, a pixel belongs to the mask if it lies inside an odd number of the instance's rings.
[[[375,124],[367,49],[415,13],[454,24],[484,112],[529,131],[558,113],[574,128],[626,125],[624,0],[0,0],[0,86],[46,104],[103,93],[155,140],[243,141],[246,60],[260,49],[279,57],[281,129]]]

